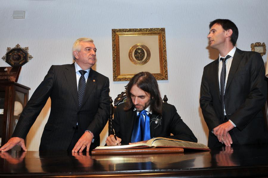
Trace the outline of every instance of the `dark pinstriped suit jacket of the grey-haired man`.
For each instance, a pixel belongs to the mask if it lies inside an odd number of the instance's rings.
[[[37,116],[51,98],[51,111],[45,125],[39,150],[68,150],[78,123],[82,136],[92,131],[99,145],[99,134],[109,117],[109,79],[90,69],[81,107],[78,104],[75,66],[51,66],[43,82],[33,93],[19,118],[13,137],[26,138]]]

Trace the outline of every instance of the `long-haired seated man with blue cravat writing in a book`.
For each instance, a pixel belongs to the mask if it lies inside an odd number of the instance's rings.
[[[147,142],[154,137],[197,142],[176,108],[163,103],[157,81],[151,73],[134,75],[126,86],[126,94],[127,101],[119,104],[114,113],[113,128],[117,140],[113,135],[108,136],[108,146]]]

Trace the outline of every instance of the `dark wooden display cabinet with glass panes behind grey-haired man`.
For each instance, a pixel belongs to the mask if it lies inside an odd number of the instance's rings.
[[[12,136],[19,116],[28,101],[29,90],[29,87],[17,82],[0,82],[0,146]],[[13,150],[20,149],[20,146],[13,148]]]

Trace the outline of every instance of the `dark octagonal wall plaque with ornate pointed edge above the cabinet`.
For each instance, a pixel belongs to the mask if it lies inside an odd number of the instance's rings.
[[[2,57],[10,66],[23,66],[32,56],[28,53],[28,47],[23,47],[18,44],[14,48],[7,47],[7,53]]]

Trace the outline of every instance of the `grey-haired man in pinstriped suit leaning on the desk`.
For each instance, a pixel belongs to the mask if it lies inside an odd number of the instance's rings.
[[[109,79],[91,69],[96,62],[92,39],[73,45],[73,64],[51,66],[24,108],[12,138],[0,151],[20,145],[41,109],[51,98],[51,111],[39,150],[82,152],[99,146],[99,134],[109,117]]]

